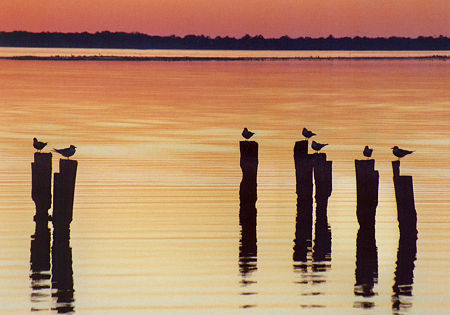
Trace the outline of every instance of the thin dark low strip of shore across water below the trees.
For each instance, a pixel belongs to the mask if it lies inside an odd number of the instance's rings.
[[[357,60],[440,60],[447,61],[449,56],[404,56],[404,57],[134,57],[134,56],[10,56],[0,60],[36,60],[36,61],[357,61]]]

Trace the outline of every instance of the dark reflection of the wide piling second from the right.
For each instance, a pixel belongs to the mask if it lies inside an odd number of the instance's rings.
[[[356,237],[356,296],[371,297],[376,295],[374,284],[378,282],[378,253],[375,240],[375,228],[360,228]],[[369,301],[355,304],[364,308],[374,306]]]

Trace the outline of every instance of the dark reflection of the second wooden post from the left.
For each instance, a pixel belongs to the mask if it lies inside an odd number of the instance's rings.
[[[58,313],[75,311],[70,229],[55,229],[52,247],[53,310]]]

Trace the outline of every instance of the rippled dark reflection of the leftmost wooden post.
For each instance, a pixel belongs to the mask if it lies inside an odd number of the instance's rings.
[[[49,310],[50,229],[47,221],[37,221],[30,244],[31,311]],[[46,305],[47,302],[47,305]]]

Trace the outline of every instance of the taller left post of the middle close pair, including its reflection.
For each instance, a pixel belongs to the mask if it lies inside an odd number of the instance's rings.
[[[312,242],[313,163],[308,154],[308,140],[294,146],[297,216],[294,239],[294,261],[306,261]]]

